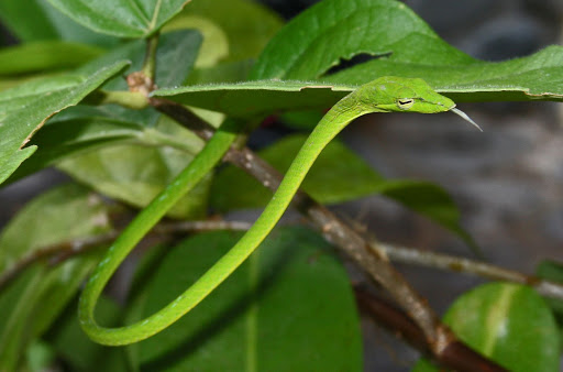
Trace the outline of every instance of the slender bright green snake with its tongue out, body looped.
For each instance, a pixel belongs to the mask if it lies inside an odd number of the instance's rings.
[[[221,161],[235,140],[236,128],[227,121],[194,161],[139,214],[109,248],[80,296],[78,316],[82,329],[93,341],[108,346],[137,342],[159,332],[206,298],[254,252],[282,218],[324,146],[352,120],[372,112],[437,113],[452,110],[477,127],[454,107],[451,99],[437,94],[418,78],[387,76],[361,86],[324,114],[253,227],[195,284],[159,311],[133,325],[119,328],[99,326],[93,318],[96,303],[113,272],[166,211]]]

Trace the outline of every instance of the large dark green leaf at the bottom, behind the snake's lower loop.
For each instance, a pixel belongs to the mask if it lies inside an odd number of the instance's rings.
[[[144,315],[179,295],[239,237],[198,234],[170,251],[147,285]],[[148,371],[362,370],[346,273],[301,228],[276,232],[194,310],[134,347]]]

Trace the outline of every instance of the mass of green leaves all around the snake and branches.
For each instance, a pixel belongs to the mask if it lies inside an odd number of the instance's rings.
[[[202,149],[203,141],[154,108],[100,105],[103,92],[126,96],[123,76],[143,68],[146,39],[156,33],[158,89],[152,97],[189,106],[214,127],[224,116],[260,122],[284,113],[310,129],[320,112],[385,75],[421,77],[456,102],[563,97],[561,46],[501,63],[478,61],[393,0],[324,0],[287,25],[250,0],[2,0],[0,20],[22,42],[0,51],[0,184],[55,165],[85,185],[41,195],[12,219],[0,236],[0,273],[45,245],[108,231],[110,212],[121,210],[108,210],[92,190],[142,208]],[[361,54],[373,59],[332,73]],[[260,155],[285,172],[303,140],[288,136]],[[385,179],[338,141],[303,189],[322,204],[378,193],[474,245],[442,188]],[[228,166],[214,178],[209,174],[168,216],[205,218],[208,204],[234,211],[269,198]],[[125,310],[102,299],[103,325],[159,309],[239,237],[212,232],[166,255],[155,250],[137,271]],[[67,307],[98,255],[54,267],[38,262],[0,289],[0,370],[37,369],[55,358],[81,371],[362,369],[349,280],[327,243],[308,230],[278,231],[187,317],[129,348],[92,343],[79,330],[75,307]],[[552,281],[561,282],[561,273],[552,263],[538,269]],[[561,302],[550,305],[561,314]],[[510,370],[548,371],[558,369],[560,352],[551,310],[529,288],[493,284],[463,295],[445,321]],[[416,370],[435,369],[421,361]]]

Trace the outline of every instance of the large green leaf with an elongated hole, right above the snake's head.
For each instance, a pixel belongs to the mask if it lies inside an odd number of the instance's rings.
[[[360,54],[376,58],[329,74],[341,61]],[[295,18],[269,42],[251,74],[257,81],[178,87],[154,95],[251,116],[327,109],[358,85],[394,75],[423,78],[457,102],[563,100],[562,66],[561,46],[529,57],[486,63],[448,45],[401,2],[324,0]]]

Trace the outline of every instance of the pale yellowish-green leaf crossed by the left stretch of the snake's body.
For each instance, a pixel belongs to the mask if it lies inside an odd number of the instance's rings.
[[[118,144],[66,158],[57,167],[103,195],[145,207],[192,158],[172,147]],[[206,176],[168,216],[206,216],[210,180],[211,176]]]

